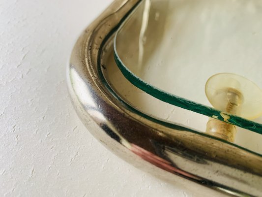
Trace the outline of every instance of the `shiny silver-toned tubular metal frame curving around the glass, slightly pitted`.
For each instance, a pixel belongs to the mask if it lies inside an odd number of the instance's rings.
[[[170,127],[148,119],[112,94],[99,76],[105,41],[139,1],[114,1],[78,39],[67,81],[79,117],[116,155],[157,177],[179,180],[202,196],[220,196],[207,187],[234,196],[262,196],[260,156],[178,125]]]

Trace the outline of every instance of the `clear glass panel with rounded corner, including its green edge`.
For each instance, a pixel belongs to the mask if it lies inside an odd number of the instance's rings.
[[[157,99],[262,134],[261,18],[260,0],[143,0],[116,64]]]

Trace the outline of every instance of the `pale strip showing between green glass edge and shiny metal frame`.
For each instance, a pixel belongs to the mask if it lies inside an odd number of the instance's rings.
[[[146,114],[151,120],[162,122],[177,129],[177,125],[190,128],[191,131],[205,132],[208,117],[186,110],[167,102],[156,99],[135,87],[121,73],[114,60],[111,44],[103,50],[103,58],[99,70],[102,81],[110,87],[116,98],[133,108],[134,112]],[[167,123],[167,124],[165,124]],[[262,135],[237,127],[234,144],[262,155]]]

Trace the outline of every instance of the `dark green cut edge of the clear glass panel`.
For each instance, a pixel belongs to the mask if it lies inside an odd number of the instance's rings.
[[[249,131],[253,131],[253,132],[262,134],[262,124],[260,124],[260,123],[256,123],[254,121],[250,121],[250,120],[247,120],[247,119],[244,119],[244,118],[223,112],[223,115],[225,114],[225,115],[230,117],[229,119],[227,119],[227,121],[225,121],[224,118],[221,115],[222,111],[219,111],[219,110],[214,109],[212,107],[208,107],[206,105],[191,101],[189,99],[184,99],[184,98],[178,97],[176,95],[170,94],[168,92],[162,91],[162,90],[146,83],[144,80],[142,80],[141,78],[136,76],[133,72],[131,72],[123,64],[123,62],[121,61],[121,59],[119,58],[119,56],[117,54],[116,37],[117,37],[119,30],[121,30],[121,27],[123,26],[123,24],[124,23],[122,23],[121,26],[119,27],[118,31],[116,32],[115,38],[114,38],[114,58],[115,58],[115,61],[116,61],[116,65],[118,66],[118,68],[120,69],[122,74],[134,86],[143,90],[144,92],[153,96],[156,99],[160,99],[160,100],[167,102],[167,103],[170,103],[172,105],[175,105],[175,106],[178,106],[178,107],[181,107],[181,108],[184,108],[184,109],[187,109],[187,110],[199,113],[199,114],[203,114],[205,116],[212,117],[212,118],[218,119],[218,120],[223,121],[223,122],[231,123],[231,124],[233,124],[237,127],[241,127],[241,128],[247,129]]]

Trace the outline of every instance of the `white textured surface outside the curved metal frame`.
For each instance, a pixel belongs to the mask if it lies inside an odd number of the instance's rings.
[[[65,66],[109,0],[0,0],[0,197],[187,197],[99,144]]]

